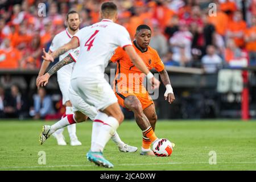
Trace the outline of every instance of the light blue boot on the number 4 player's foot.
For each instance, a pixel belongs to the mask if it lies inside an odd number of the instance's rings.
[[[110,163],[108,160],[106,160],[104,158],[104,156],[102,155],[102,152],[89,151],[86,154],[86,157],[90,162],[93,162],[97,166],[102,166],[102,167],[106,167],[106,168],[113,168],[114,167],[114,165],[112,163]]]

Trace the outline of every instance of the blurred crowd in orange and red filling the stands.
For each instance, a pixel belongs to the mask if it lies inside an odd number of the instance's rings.
[[[42,48],[64,30],[68,11],[79,12],[82,28],[99,20],[101,2],[1,1],[0,69],[40,68]],[[233,61],[256,64],[256,0],[114,2],[119,9],[117,23],[127,28],[132,39],[139,24],[152,28],[150,45],[166,65],[214,72]]]

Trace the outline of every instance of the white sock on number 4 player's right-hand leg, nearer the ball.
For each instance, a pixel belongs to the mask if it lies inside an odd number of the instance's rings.
[[[115,134],[115,131],[119,127],[117,119],[114,117],[108,117],[104,121],[104,125],[100,127],[100,132],[97,135],[96,142],[92,146],[93,152],[103,152],[106,143]]]

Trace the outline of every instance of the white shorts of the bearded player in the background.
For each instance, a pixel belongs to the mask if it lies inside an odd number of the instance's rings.
[[[62,104],[64,105],[67,101],[69,101],[69,96],[68,96],[68,90],[69,90],[69,85],[70,85],[70,79],[71,79],[71,74],[69,73],[57,73],[57,81],[60,87],[60,91],[62,94]]]

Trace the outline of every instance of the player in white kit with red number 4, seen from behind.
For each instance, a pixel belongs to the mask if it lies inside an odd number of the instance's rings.
[[[152,88],[158,88],[160,82],[135,52],[125,27],[114,23],[117,20],[117,6],[113,2],[104,2],[100,14],[103,18],[101,22],[82,28],[69,43],[51,54],[44,51],[43,58],[53,61],[64,52],[80,47],[79,58],[73,67],[71,86],[82,100],[100,110],[93,122],[93,144],[86,156],[98,166],[112,168],[113,164],[104,158],[102,152],[124,118],[117,98],[104,78],[105,67],[115,48],[120,46],[125,49],[135,67],[147,75]]]

